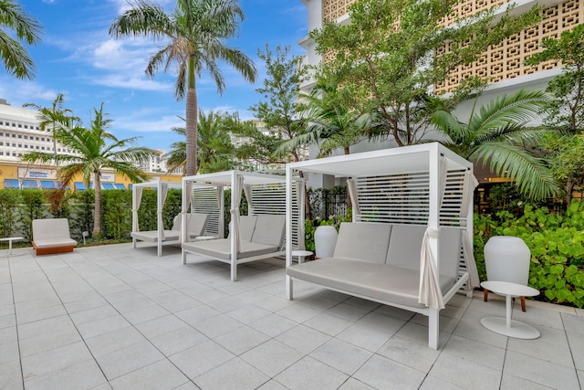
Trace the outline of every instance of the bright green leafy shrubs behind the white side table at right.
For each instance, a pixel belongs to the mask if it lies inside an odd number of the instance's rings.
[[[584,307],[584,203],[574,201],[565,215],[547,207],[525,206],[523,216],[508,211],[474,216],[474,256],[481,279],[485,243],[492,236],[522,238],[531,251],[529,285],[544,300]]]

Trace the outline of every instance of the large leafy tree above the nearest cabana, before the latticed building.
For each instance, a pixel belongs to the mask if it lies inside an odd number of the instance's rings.
[[[480,58],[539,19],[534,8],[521,16],[494,9],[444,26],[457,0],[360,0],[349,5],[350,23],[325,21],[310,32],[318,54],[327,56],[317,71],[319,85],[339,85],[339,99],[349,111],[377,112],[398,145],[418,142],[428,128],[428,91],[460,65]],[[449,47],[444,51],[444,47]],[[481,90],[487,79],[461,82],[446,106]]]

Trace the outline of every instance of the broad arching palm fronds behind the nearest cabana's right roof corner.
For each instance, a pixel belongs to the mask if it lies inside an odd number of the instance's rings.
[[[491,100],[478,112],[473,107],[466,123],[443,107],[435,107],[432,122],[448,137],[441,142],[455,153],[489,163],[496,174],[515,179],[524,195],[545,199],[560,194],[561,189],[537,155],[538,141],[546,129],[528,127],[528,123],[548,101],[543,91],[519,90]]]

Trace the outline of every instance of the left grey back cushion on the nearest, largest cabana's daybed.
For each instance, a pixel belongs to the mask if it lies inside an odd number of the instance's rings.
[[[389,224],[343,222],[340,224],[334,257],[383,264],[391,235]]]

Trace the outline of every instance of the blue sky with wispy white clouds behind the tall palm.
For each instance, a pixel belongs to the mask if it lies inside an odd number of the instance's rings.
[[[15,107],[36,103],[51,107],[58,93],[65,107],[89,125],[94,108],[104,103],[112,120],[110,132],[119,139],[141,137],[138,143],[152,149],[170,149],[180,136],[172,127],[183,126],[186,101],[174,95],[175,73],[163,69],[154,79],[144,70],[161,44],[151,38],[119,38],[108,34],[113,20],[128,8],[126,0],[16,0],[26,13],[43,26],[42,42],[27,47],[36,64],[36,78],[19,80],[0,67],[0,99]],[[171,12],[175,0],[152,0]],[[221,64],[226,88],[217,92],[204,73],[197,79],[197,99],[203,111],[239,112],[253,119],[250,106],[264,100],[255,92],[266,78],[257,50],[266,44],[291,46],[291,53],[304,55],[297,41],[308,35],[307,8],[301,0],[239,0],[245,13],[239,37],[229,41],[252,58],[258,77],[245,81],[234,69]]]

